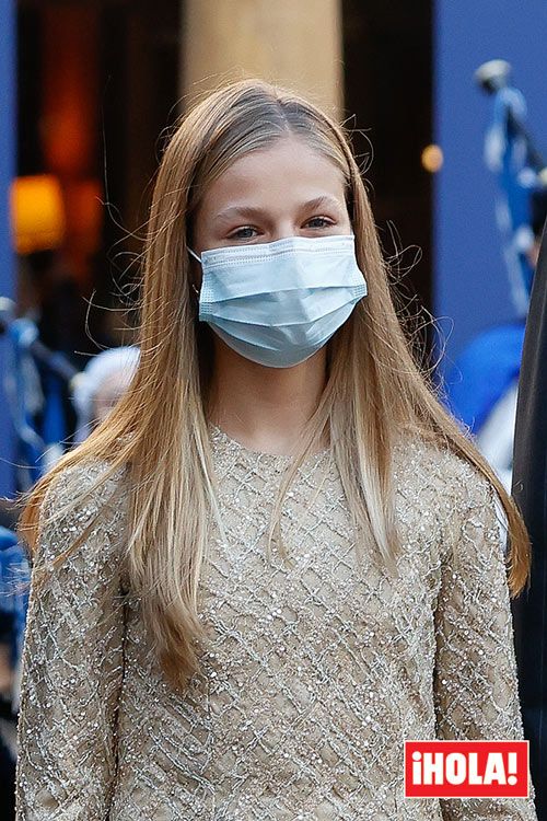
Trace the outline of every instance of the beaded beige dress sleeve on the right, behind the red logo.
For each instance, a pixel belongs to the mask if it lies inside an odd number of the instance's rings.
[[[494,495],[463,477],[443,550],[434,614],[434,703],[439,739],[522,740],[505,544]],[[528,771],[529,779],[529,771]],[[528,798],[441,799],[445,821],[537,821]]]

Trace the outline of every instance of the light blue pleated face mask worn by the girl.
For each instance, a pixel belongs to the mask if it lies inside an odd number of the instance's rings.
[[[318,350],[366,296],[353,234],[288,236],[203,251],[199,320],[242,356],[290,368]]]

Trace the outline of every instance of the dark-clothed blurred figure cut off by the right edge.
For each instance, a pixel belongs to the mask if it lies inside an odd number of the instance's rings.
[[[545,192],[544,195],[545,197]],[[539,205],[539,198],[537,200]],[[512,601],[524,733],[547,821],[547,232],[532,288],[516,408],[513,497],[532,541],[529,590]]]

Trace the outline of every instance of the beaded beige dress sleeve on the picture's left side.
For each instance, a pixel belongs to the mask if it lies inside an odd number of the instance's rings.
[[[124,669],[123,506],[109,498],[114,479],[44,524],[96,478],[100,464],[67,469],[40,507],[22,656],[18,821],[108,818]],[[97,510],[101,519],[88,529]],[[75,552],[37,587],[37,568],[50,566],[84,531]]]

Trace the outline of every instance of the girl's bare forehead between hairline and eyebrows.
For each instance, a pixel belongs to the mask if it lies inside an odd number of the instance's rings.
[[[287,205],[329,194],[344,204],[344,174],[334,160],[304,140],[283,137],[268,148],[235,160],[205,192],[202,209],[237,200],[267,205],[282,199]]]

